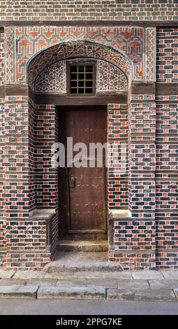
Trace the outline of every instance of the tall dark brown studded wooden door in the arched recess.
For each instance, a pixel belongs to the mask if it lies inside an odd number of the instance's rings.
[[[106,142],[106,113],[105,107],[98,106],[59,108],[59,141],[67,146],[67,137],[73,137],[73,146],[87,146],[86,167],[75,167],[79,149],[68,159],[73,167],[59,169],[59,230],[64,239],[107,239],[105,154],[101,167],[89,154],[89,143]]]

